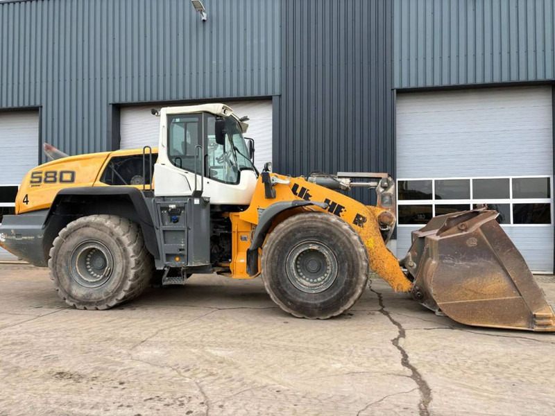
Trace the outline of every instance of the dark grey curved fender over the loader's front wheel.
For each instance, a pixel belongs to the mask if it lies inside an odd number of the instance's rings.
[[[316,205],[316,207],[321,209],[327,209],[325,202],[292,200],[275,202],[262,211],[258,218],[258,225],[255,227],[250,247],[247,250],[247,273],[249,276],[254,276],[258,273],[258,249],[262,247],[266,234],[268,234],[268,229],[272,226],[273,219],[283,211],[287,211],[287,209],[307,207],[308,205]]]

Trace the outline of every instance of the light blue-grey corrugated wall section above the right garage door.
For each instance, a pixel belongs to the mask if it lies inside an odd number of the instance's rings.
[[[553,79],[554,19],[554,0],[393,0],[393,85]]]

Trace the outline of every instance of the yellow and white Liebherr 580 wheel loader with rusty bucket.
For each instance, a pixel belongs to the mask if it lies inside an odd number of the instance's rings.
[[[386,173],[290,177],[253,164],[248,119],[223,104],[165,107],[158,148],[68,157],[33,168],[4,216],[0,245],[48,266],[58,295],[109,309],[193,273],[262,277],[271,299],[302,318],[347,311],[370,272],[463,324],[555,331],[555,316],[497,212],[436,216],[407,256],[386,248],[395,182]],[[373,189],[375,206],[350,198]]]

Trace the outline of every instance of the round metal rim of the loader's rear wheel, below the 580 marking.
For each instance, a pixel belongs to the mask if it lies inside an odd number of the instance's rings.
[[[112,276],[114,258],[103,243],[89,240],[80,243],[71,252],[69,264],[74,281],[85,288],[97,288]]]

